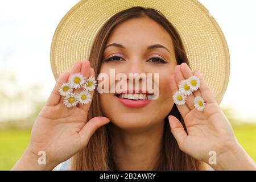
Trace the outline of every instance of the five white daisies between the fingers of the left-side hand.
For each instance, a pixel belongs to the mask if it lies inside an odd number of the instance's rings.
[[[96,83],[97,81],[92,76],[85,80],[82,73],[72,74],[68,82],[64,82],[59,88],[60,95],[64,96],[64,105],[75,107],[77,104],[88,104],[92,100],[90,91],[96,89]],[[80,93],[73,93],[74,89],[80,88],[82,88]]]

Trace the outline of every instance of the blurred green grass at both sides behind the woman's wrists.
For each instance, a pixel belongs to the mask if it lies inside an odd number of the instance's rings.
[[[256,161],[256,125],[233,127],[246,152]],[[31,131],[0,131],[0,170],[10,170],[20,158],[30,140]]]

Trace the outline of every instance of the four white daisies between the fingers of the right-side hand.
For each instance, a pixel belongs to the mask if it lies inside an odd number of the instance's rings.
[[[200,88],[200,80],[196,76],[191,76],[186,80],[179,82],[179,90],[174,94],[173,100],[177,105],[183,105],[187,101],[187,96]],[[203,97],[197,96],[194,98],[194,106],[197,110],[203,111],[205,101]]]

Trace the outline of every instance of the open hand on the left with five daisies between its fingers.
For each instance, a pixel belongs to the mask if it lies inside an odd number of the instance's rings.
[[[59,88],[63,82],[68,81],[71,74],[79,72],[86,78],[95,77],[89,61],[77,61],[71,73],[60,75],[46,105],[36,118],[30,143],[13,170],[51,170],[84,148],[94,131],[109,123],[109,119],[105,117],[94,117],[87,121],[91,101],[87,105],[71,108],[63,104],[63,96],[60,96]],[[79,89],[76,92],[78,91]],[[93,92],[90,92],[92,97]],[[46,164],[38,163],[40,151],[46,154]]]

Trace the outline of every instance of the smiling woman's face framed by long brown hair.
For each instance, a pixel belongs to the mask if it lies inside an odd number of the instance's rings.
[[[121,46],[109,46],[117,43]],[[150,48],[149,46],[160,44],[165,48]],[[109,47],[107,47],[109,46]],[[129,19],[114,28],[110,34],[104,50],[104,60],[113,57],[109,61],[103,61],[100,73],[106,73],[109,77],[109,92],[113,82],[110,83],[110,69],[114,69],[115,75],[124,73],[129,80],[129,73],[152,73],[153,84],[159,89],[156,100],[137,100],[142,96],[134,96],[135,100],[119,98],[128,95],[117,93],[102,93],[100,100],[102,109],[106,115],[121,129],[129,131],[143,131],[154,127],[163,121],[172,109],[174,102],[170,90],[170,76],[174,74],[176,65],[174,46],[170,35],[158,23],[150,18]],[[167,50],[168,49],[168,50]],[[163,63],[162,60],[165,61]],[[159,74],[159,80],[154,79],[154,73]],[[135,80],[133,80],[135,81]],[[139,92],[142,93],[142,81]],[[100,81],[99,81],[100,82]],[[120,81],[115,81],[117,85]],[[135,85],[129,90],[135,93]],[[155,89],[156,90],[156,89]],[[147,90],[148,91],[148,90]]]

